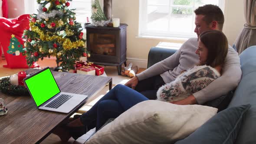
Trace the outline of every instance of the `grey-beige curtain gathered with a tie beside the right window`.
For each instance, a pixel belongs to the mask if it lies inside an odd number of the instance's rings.
[[[235,42],[239,54],[249,46],[256,45],[256,0],[244,0],[244,16],[246,23]]]

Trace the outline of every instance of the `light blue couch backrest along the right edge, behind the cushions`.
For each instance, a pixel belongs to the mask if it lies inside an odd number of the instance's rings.
[[[235,144],[256,144],[256,46],[240,54],[242,79],[228,107],[251,104]]]

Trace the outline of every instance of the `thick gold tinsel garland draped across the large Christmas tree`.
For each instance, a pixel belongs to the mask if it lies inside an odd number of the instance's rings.
[[[30,23],[30,27],[32,31],[39,34],[40,39],[43,41],[53,41],[53,39],[56,39],[58,43],[62,44],[64,50],[70,50],[85,45],[82,40],[71,42],[70,39],[62,38],[62,36],[49,36],[49,33],[44,34],[42,30],[34,25],[34,23]],[[72,32],[68,31],[68,33],[70,34]]]

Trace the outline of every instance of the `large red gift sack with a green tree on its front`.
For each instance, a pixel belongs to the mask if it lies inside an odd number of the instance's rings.
[[[0,17],[0,44],[3,46],[3,53],[7,60],[8,68],[28,68],[26,56],[22,55],[24,29],[29,29],[29,14],[16,17],[13,20]],[[33,65],[32,67],[35,67]]]

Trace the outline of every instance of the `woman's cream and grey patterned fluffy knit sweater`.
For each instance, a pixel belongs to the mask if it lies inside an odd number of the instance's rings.
[[[194,66],[187,72],[177,76],[171,82],[161,86],[157,92],[159,101],[178,101],[207,87],[220,77],[220,73],[208,65]]]

